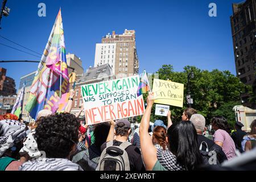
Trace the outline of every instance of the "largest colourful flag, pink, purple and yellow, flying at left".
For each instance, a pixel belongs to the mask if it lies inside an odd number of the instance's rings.
[[[68,89],[68,68],[60,10],[38,65],[26,110],[34,119],[42,109],[55,113],[59,108],[61,95],[67,93]]]

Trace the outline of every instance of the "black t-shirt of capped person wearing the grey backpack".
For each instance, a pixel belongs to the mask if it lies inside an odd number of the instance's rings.
[[[102,144],[101,146],[101,152],[106,148],[106,143]],[[117,140],[113,140],[113,146],[120,146],[122,142],[119,142]],[[130,162],[130,171],[145,171],[145,167],[143,164],[141,151],[138,147],[130,145],[125,149],[127,152],[129,162]]]

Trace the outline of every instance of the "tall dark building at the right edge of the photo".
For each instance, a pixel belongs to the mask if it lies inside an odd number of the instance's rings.
[[[247,0],[232,6],[230,22],[237,77],[244,84],[253,86],[256,93],[256,2]],[[241,98],[246,103],[249,95],[242,94]]]

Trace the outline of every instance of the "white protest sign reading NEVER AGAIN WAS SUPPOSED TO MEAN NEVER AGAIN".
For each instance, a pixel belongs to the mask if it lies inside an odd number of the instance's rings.
[[[142,115],[143,95],[137,96],[139,76],[119,78],[81,86],[88,125]]]

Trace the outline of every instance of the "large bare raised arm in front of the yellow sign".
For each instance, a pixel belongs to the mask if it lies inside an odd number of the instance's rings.
[[[154,96],[152,93],[148,94],[147,107],[141,119],[139,126],[139,139],[141,143],[141,152],[146,170],[151,171],[158,160],[156,155],[156,148],[152,143],[152,139],[148,134],[148,127],[150,126],[150,114],[154,104]]]

